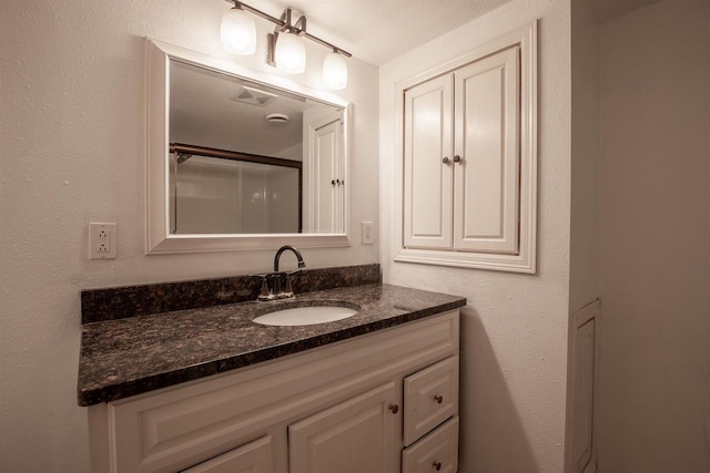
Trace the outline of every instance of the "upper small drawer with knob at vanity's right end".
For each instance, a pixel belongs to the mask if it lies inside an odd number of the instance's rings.
[[[458,413],[458,356],[404,379],[404,444]]]

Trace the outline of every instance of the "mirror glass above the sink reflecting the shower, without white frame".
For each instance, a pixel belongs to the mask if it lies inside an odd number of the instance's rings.
[[[342,135],[343,109],[171,61],[171,233],[342,233]]]

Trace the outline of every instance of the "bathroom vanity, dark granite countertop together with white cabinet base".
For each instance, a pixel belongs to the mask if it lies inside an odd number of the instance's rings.
[[[300,327],[253,322],[284,302],[85,323],[92,471],[457,471],[464,298],[376,282],[285,304],[359,310]]]

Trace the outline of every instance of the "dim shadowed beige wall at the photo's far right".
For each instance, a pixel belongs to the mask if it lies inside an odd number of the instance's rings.
[[[708,472],[710,2],[600,41],[600,472]]]

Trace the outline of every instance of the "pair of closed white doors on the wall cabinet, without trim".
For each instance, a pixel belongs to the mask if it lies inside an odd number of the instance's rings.
[[[518,49],[405,92],[404,244],[518,249]]]

